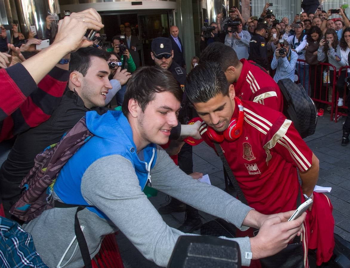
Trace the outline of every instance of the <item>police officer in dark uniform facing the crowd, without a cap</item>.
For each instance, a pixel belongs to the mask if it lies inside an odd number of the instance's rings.
[[[261,67],[264,67],[266,71],[269,70],[268,60],[267,60],[267,47],[265,34],[267,32],[267,25],[264,23],[258,23],[255,29],[256,35],[250,39],[249,43],[249,58],[255,61]]]

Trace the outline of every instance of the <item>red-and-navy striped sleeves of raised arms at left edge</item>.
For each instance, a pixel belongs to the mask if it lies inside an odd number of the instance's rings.
[[[61,101],[69,73],[54,67],[36,85],[22,64],[0,69],[0,142],[46,121]]]

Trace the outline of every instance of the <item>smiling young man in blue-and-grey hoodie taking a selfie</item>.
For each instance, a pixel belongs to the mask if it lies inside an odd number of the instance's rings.
[[[293,211],[267,216],[252,210],[219,188],[186,175],[156,145],[166,144],[177,125],[181,97],[182,90],[168,71],[141,67],[128,82],[123,112],[86,113],[87,128],[95,136],[64,165],[53,190],[55,200],[89,205],[78,218],[91,258],[103,237],[118,228],[147,259],[167,265],[183,233],[170,228],[149,202],[142,192],[147,183],[242,230],[244,225],[260,228],[254,238],[233,239],[239,243],[243,265],[248,266],[250,258],[280,251],[300,234],[305,213],[286,222]],[[45,210],[24,226],[49,267],[83,266],[76,248],[75,213],[76,208]]]

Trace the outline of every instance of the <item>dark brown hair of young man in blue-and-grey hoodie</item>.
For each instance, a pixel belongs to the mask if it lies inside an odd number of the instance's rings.
[[[182,89],[172,73],[158,66],[140,67],[133,73],[126,86],[123,114],[129,114],[130,99],[136,100],[142,111],[145,111],[147,104],[155,99],[155,94],[164,91],[174,94],[179,102],[182,101]]]

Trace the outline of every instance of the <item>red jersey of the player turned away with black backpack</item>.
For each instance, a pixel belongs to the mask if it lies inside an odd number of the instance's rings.
[[[243,67],[237,82],[233,83],[236,96],[282,112],[283,96],[273,78],[246,59],[241,59],[240,62]]]

